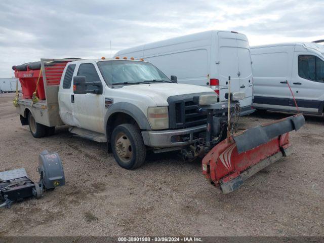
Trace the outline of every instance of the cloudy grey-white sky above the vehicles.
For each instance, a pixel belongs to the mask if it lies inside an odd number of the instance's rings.
[[[251,46],[324,38],[323,0],[1,1],[0,78],[39,58],[110,57],[120,49],[211,29]]]

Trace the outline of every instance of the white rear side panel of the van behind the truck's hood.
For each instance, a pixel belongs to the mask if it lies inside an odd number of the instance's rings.
[[[167,76],[176,75],[178,83],[207,86],[211,60],[211,33],[193,34],[147,44],[145,61]]]

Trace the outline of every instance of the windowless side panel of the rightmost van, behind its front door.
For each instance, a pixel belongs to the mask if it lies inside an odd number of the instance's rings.
[[[285,82],[291,82],[293,52],[294,46],[251,49],[256,108],[291,109],[293,100]]]

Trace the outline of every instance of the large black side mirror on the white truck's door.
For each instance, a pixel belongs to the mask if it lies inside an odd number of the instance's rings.
[[[88,86],[93,86],[88,90]],[[97,82],[86,82],[86,76],[74,76],[73,77],[73,93],[74,94],[102,94],[102,84]]]

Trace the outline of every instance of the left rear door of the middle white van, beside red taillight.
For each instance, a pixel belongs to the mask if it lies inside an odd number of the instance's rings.
[[[232,32],[218,32],[218,79],[219,101],[227,101],[228,77],[231,77],[230,92],[239,92],[238,54],[236,34]]]

